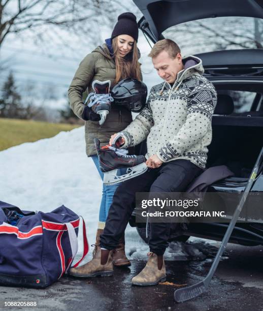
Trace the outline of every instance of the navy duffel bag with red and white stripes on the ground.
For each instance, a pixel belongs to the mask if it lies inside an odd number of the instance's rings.
[[[80,217],[64,205],[22,211],[0,201],[0,285],[43,288],[67,273],[78,251]],[[88,253],[83,220],[83,255]]]

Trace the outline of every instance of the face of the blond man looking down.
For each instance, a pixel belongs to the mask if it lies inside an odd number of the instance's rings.
[[[181,54],[178,53],[175,58],[171,58],[165,50],[153,57],[152,63],[159,77],[168,83],[174,83],[178,72],[183,69]]]

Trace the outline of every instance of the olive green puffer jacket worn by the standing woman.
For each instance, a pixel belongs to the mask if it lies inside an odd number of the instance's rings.
[[[110,80],[111,87],[113,86],[116,77],[116,68],[114,60],[107,56],[107,51],[108,47],[104,44],[102,47],[97,47],[88,54],[81,61],[69,87],[68,96],[71,108],[81,119],[84,119],[83,111],[85,107],[82,95],[86,89],[88,93],[92,91],[92,81]],[[98,121],[85,121],[87,155],[96,154],[93,142],[94,138],[100,139],[102,146],[104,146],[109,143],[111,135],[121,132],[131,121],[131,112],[125,107],[115,106],[114,104],[102,126],[98,124]]]

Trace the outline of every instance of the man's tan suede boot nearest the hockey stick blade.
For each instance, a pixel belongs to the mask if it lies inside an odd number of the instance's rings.
[[[166,266],[163,261],[163,256],[157,256],[150,252],[148,262],[143,270],[131,279],[131,284],[147,286],[156,285],[159,282],[166,281]]]

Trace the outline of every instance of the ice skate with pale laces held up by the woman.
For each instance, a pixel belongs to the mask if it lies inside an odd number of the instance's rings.
[[[100,125],[103,125],[107,114],[111,111],[113,98],[110,95],[110,86],[110,80],[104,82],[94,80],[92,82],[94,92],[91,92],[85,101],[85,104],[88,102],[88,107],[92,107],[94,112],[100,114],[101,119],[98,121]]]

